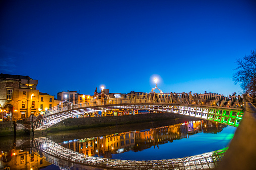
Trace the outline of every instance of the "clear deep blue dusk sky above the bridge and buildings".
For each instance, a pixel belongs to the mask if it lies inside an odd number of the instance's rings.
[[[255,1],[0,1],[0,73],[40,92],[241,93],[256,49]],[[157,92],[157,90],[156,90]]]

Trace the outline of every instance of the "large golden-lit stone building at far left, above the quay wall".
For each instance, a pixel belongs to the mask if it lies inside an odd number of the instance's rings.
[[[0,74],[0,120],[27,117],[30,97],[38,93],[36,86],[37,80],[29,76]]]

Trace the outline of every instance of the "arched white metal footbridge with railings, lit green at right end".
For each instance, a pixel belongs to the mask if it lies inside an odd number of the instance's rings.
[[[63,102],[50,108],[42,117],[33,117],[33,130],[43,130],[72,116],[100,110],[139,109],[180,114],[189,117],[239,125],[243,115],[243,98],[214,94],[145,93],[102,97],[89,102]]]

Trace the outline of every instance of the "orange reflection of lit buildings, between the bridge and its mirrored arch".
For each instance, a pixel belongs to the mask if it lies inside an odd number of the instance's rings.
[[[85,156],[111,158],[112,154],[126,151],[142,151],[160,144],[187,138],[196,133],[217,133],[227,125],[206,120],[189,121],[175,125],[145,130],[115,133],[59,143],[66,148],[84,153]]]

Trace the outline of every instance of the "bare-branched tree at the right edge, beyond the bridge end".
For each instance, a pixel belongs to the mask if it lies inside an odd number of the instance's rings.
[[[237,72],[233,74],[235,84],[241,83],[245,93],[256,95],[256,50],[236,61]]]

